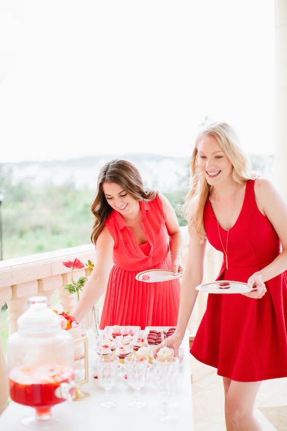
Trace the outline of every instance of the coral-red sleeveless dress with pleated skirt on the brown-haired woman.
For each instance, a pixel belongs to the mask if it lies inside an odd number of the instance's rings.
[[[179,279],[142,283],[140,271],[171,269],[169,233],[162,202],[157,195],[150,202],[139,202],[141,225],[148,242],[138,245],[123,217],[113,210],[105,226],[114,239],[111,269],[100,328],[112,325],[175,326],[180,297]]]

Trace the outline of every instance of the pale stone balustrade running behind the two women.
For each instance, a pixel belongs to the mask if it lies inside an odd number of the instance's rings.
[[[181,228],[184,236],[183,263],[186,263],[188,253],[187,227]],[[212,280],[218,273],[221,257],[210,246],[207,247],[207,259],[205,261],[205,279]],[[17,329],[17,319],[27,307],[29,297],[32,295],[44,295],[51,305],[52,297],[58,292],[58,299],[64,310],[70,310],[75,305],[75,295],[71,295],[63,288],[70,281],[70,269],[66,268],[63,261],[80,259],[83,263],[88,259],[94,260],[94,246],[83,245],[73,248],[65,248],[49,253],[41,253],[27,257],[9,259],[0,262],[0,309],[7,303],[9,333]],[[74,270],[75,279],[80,276],[88,276],[88,269]],[[189,332],[194,334],[204,313],[206,295],[199,294],[196,307],[189,321]],[[100,314],[103,300],[100,301]],[[0,414],[5,408],[8,399],[7,364],[0,343]]]

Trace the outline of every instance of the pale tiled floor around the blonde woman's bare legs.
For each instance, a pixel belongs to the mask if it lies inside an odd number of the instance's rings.
[[[217,375],[216,369],[201,364],[193,357],[190,360],[194,431],[225,431],[222,377]],[[287,430],[287,378],[262,382],[256,399],[255,415],[264,431]],[[276,427],[267,417],[273,423],[277,422]]]

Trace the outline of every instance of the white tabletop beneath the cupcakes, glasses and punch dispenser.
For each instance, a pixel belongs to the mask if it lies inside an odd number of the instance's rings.
[[[92,345],[92,343],[90,343]],[[99,403],[104,398],[104,389],[99,381],[92,375],[92,355],[95,354],[92,347],[89,349],[90,376],[89,382],[81,386],[81,390],[88,392],[90,398],[84,401],[63,402],[52,408],[52,416],[59,422],[49,428],[51,431],[79,431],[89,429],[134,429],[135,431],[147,431],[157,429],[183,429],[186,427],[193,431],[193,407],[190,380],[189,339],[187,333],[182,341],[183,362],[180,366],[178,384],[175,393],[178,407],[174,410],[177,419],[173,422],[161,422],[162,395],[156,384],[148,379],[145,387],[140,390],[142,400],[147,405],[141,409],[133,409],[128,402],[133,399],[133,389],[129,387],[127,380],[118,378],[111,389],[110,397],[117,401],[118,406],[113,409],[103,409]],[[0,417],[1,431],[28,430],[20,420],[23,416],[31,414],[31,407],[11,402]],[[30,428],[31,429],[31,428]]]

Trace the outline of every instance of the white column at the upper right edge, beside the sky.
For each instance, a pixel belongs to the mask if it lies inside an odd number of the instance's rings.
[[[275,0],[276,151],[275,180],[287,199],[287,1]]]

